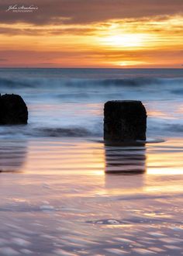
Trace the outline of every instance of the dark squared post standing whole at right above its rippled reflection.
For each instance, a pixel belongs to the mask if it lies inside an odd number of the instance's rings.
[[[147,112],[142,102],[114,100],[104,106],[104,140],[146,140]]]

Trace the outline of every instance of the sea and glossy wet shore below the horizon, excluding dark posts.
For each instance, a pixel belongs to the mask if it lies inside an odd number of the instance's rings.
[[[181,255],[182,69],[1,68],[0,93],[29,109],[0,126],[0,255]],[[143,102],[146,144],[103,143],[112,99]]]

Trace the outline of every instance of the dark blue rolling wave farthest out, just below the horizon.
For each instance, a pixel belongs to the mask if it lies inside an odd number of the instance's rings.
[[[72,88],[94,86],[140,87],[148,85],[182,85],[183,78],[112,78],[112,79],[79,79],[79,78],[0,78],[1,88]],[[172,91],[178,93],[176,89]],[[182,90],[181,90],[182,92]]]

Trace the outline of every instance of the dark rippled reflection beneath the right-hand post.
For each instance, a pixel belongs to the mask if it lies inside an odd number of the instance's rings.
[[[136,175],[146,171],[144,144],[105,144],[105,173]]]

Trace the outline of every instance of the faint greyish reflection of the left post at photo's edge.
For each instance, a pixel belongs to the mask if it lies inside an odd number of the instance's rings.
[[[26,161],[26,141],[1,141],[0,172],[19,172]]]

